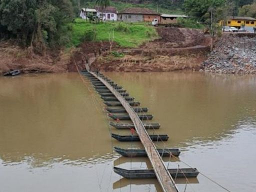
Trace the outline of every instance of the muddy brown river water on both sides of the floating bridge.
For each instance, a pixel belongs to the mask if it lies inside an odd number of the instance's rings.
[[[169,168],[196,167],[230,191],[256,188],[256,76],[201,73],[105,73],[149,108],[167,133],[157,147],[178,147]],[[77,73],[0,77],[0,192],[161,191],[156,179],[128,180],[113,172],[151,168],[113,146],[102,100]],[[149,122],[149,121],[148,121]],[[185,162],[185,163],[184,163]],[[225,191],[202,174],[177,179],[180,191]]]

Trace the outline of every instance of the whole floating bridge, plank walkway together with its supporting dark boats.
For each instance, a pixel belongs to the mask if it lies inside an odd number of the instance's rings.
[[[167,140],[168,135],[149,135],[147,133],[148,128],[159,128],[158,123],[143,123],[142,120],[152,119],[152,115],[138,114],[139,112],[147,112],[147,108],[139,108],[139,102],[134,101],[134,97],[129,96],[121,86],[115,84],[112,80],[105,77],[101,73],[89,72],[82,70],[80,73],[86,76],[96,91],[101,95],[104,100],[104,104],[109,112],[126,112],[127,115],[114,115],[109,113],[108,116],[113,119],[130,119],[131,124],[121,124],[110,122],[110,125],[117,129],[134,128],[137,135],[117,135],[112,134],[112,137],[119,141],[140,141],[144,149],[122,149],[115,147],[115,151],[123,156],[136,157],[147,156],[150,160],[153,170],[126,170],[122,168],[114,167],[114,171],[127,178],[152,178],[156,177],[164,192],[177,192],[178,188],[175,184],[173,177],[196,177],[198,171],[195,168],[192,169],[167,169],[162,161],[162,156],[178,156],[179,149],[157,149],[153,141]],[[118,108],[112,108],[111,106],[119,106]],[[134,107],[137,106],[137,107]]]

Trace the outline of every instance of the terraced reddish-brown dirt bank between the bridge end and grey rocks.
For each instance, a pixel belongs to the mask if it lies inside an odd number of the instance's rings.
[[[201,30],[158,27],[160,39],[139,48],[116,49],[124,55],[103,54],[91,67],[102,71],[199,70],[207,58],[211,39]]]

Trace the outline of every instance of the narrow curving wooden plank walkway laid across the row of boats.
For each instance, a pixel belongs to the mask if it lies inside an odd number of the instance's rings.
[[[138,133],[140,141],[143,144],[145,151],[147,153],[147,156],[153,166],[155,175],[162,187],[162,190],[164,192],[178,192],[178,188],[173,178],[171,177],[166,166],[164,165],[161,156],[159,155],[154,143],[150,139],[137,113],[128,104],[128,102],[124,99],[124,97],[116,89],[114,89],[104,78],[102,78],[101,76],[97,76],[94,72],[90,72],[90,73],[93,76],[95,76],[97,79],[99,79],[114,94],[114,96],[121,102],[122,106],[125,108],[125,110],[129,114],[135,126],[135,129]]]

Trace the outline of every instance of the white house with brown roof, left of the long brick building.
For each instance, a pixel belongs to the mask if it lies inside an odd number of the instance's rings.
[[[117,20],[117,11],[113,6],[107,6],[106,8],[96,7],[97,16],[103,20]]]

